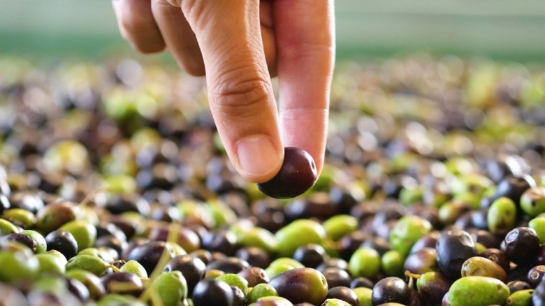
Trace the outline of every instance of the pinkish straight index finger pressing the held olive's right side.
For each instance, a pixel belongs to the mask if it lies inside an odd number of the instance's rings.
[[[282,138],[309,152],[319,173],[335,63],[333,0],[277,0],[274,6]]]

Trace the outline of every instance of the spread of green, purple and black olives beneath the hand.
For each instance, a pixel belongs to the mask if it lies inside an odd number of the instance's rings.
[[[326,166],[269,198],[203,80],[0,57],[0,305],[545,305],[545,66],[337,65]]]

